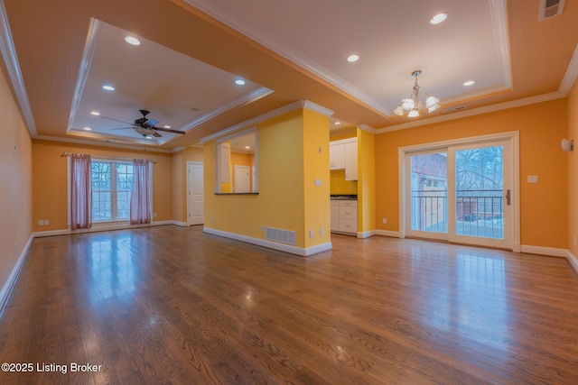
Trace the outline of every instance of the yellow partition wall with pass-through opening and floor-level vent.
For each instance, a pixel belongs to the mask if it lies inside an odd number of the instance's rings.
[[[312,114],[296,110],[257,125],[258,195],[215,195],[215,141],[205,142],[206,227],[257,239],[266,238],[261,225],[293,230],[301,248],[330,242],[329,121]],[[313,179],[322,179],[322,188],[312,190]],[[318,219],[305,214],[306,205]],[[312,240],[309,227],[316,229]]]

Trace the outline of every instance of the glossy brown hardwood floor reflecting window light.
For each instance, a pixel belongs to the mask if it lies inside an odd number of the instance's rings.
[[[36,239],[0,319],[0,362],[33,371],[0,383],[578,383],[564,259],[331,241],[302,258],[200,227]]]

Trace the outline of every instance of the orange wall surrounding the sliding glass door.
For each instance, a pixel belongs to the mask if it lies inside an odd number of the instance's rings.
[[[575,91],[574,91],[575,94]],[[521,244],[567,248],[565,99],[464,117],[376,136],[376,217],[380,230],[399,231],[397,149],[489,133],[520,133]],[[575,132],[574,132],[575,133]],[[538,184],[527,176],[537,175]],[[575,170],[574,174],[575,176]],[[575,190],[574,190],[575,191]],[[380,218],[387,218],[387,225]]]

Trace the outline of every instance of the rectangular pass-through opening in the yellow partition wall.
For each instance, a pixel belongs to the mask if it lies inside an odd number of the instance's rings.
[[[229,135],[216,142],[217,194],[257,192],[256,128]]]

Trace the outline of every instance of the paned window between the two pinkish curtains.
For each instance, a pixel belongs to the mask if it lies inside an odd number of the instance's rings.
[[[113,160],[93,160],[93,222],[128,220],[130,218],[130,193],[132,185],[132,163]]]

